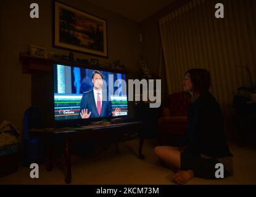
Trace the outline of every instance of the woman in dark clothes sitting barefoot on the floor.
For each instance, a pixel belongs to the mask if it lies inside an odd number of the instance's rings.
[[[185,73],[183,90],[191,94],[188,129],[170,146],[155,147],[155,155],[178,172],[173,179],[184,184],[192,177],[216,179],[217,163],[224,166],[224,176],[233,174],[233,155],[225,139],[220,105],[209,92],[210,73],[191,69]]]

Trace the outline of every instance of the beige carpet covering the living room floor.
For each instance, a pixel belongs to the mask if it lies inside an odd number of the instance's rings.
[[[72,166],[72,184],[175,184],[171,180],[173,172],[163,167],[154,156],[157,142],[146,140],[143,147],[146,159],[138,159],[138,140],[120,143],[120,153],[102,150],[90,159],[79,159]],[[234,171],[231,177],[222,180],[194,178],[188,184],[256,184],[256,150],[240,148],[229,144],[234,155]],[[0,184],[65,184],[64,169],[55,165],[47,172],[39,166],[39,179],[30,178],[29,167],[19,167],[19,171],[0,178]]]

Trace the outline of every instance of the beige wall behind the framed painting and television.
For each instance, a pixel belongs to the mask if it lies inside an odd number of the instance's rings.
[[[7,119],[19,129],[23,127],[23,113],[31,105],[31,75],[22,74],[19,52],[35,44],[56,54],[68,55],[67,50],[52,49],[52,1],[36,1],[38,19],[30,18],[31,2],[5,1],[0,7],[0,121]],[[62,2],[107,20],[109,59],[78,53],[75,58],[97,58],[99,63],[120,59],[132,77],[138,69],[139,24],[86,1]]]

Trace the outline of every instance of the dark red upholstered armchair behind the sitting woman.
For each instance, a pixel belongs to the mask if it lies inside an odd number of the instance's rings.
[[[177,138],[187,128],[189,100],[184,92],[167,95],[167,102],[162,107],[162,115],[158,120],[158,135]],[[160,141],[162,143],[162,141]]]

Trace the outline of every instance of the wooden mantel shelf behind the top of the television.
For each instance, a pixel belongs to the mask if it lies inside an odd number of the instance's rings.
[[[83,63],[76,63],[69,62],[69,61],[60,61],[60,60],[51,60],[47,58],[39,58],[39,57],[32,57],[30,55],[23,55],[20,54],[20,61],[22,62],[22,73],[25,74],[32,74],[38,72],[51,72],[54,64],[61,64],[61,65],[69,65],[69,66],[78,66],[84,67],[94,70],[105,70],[105,71],[112,71],[118,73],[129,73],[128,71],[120,71],[114,70],[112,68],[104,68],[96,65],[90,64],[83,64]]]

